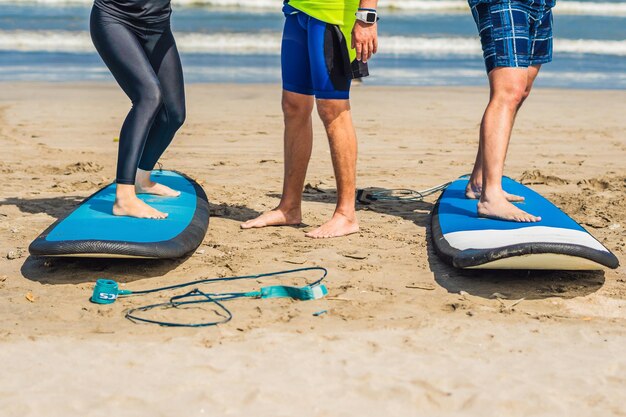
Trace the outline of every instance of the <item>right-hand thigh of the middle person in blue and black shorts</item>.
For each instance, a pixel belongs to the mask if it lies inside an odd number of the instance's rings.
[[[308,44],[315,97],[347,100],[352,72],[346,39],[339,27],[311,18]]]

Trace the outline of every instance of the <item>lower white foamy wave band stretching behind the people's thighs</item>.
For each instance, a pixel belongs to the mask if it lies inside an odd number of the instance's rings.
[[[278,55],[278,33],[178,33],[183,53],[223,55]],[[382,55],[473,56],[481,53],[476,38],[380,38]],[[87,32],[0,31],[0,51],[89,53],[94,51]],[[555,39],[555,52],[626,56],[626,40]]]

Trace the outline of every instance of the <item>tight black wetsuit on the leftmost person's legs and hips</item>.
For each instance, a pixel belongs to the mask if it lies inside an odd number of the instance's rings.
[[[120,133],[118,184],[149,171],[185,120],[180,56],[169,0],[95,0],[91,39],[133,103]]]

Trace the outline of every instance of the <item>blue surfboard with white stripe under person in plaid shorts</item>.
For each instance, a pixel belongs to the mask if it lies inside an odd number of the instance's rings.
[[[447,263],[468,269],[596,270],[619,261],[602,243],[558,207],[530,188],[503,178],[502,186],[523,196],[525,211],[537,223],[478,217],[477,200],[465,197],[468,178],[452,182],[433,210],[432,238]]]

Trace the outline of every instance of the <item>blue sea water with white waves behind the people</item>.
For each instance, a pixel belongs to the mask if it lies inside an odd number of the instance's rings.
[[[174,0],[187,82],[277,83],[280,0]],[[0,81],[112,81],[89,37],[91,0],[0,0]],[[471,13],[457,0],[380,0],[371,85],[486,83]],[[554,61],[537,85],[626,88],[626,2],[557,2]]]

